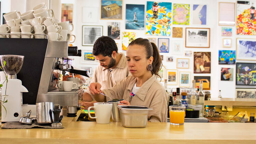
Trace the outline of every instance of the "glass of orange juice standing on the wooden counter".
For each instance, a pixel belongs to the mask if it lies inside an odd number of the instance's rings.
[[[183,125],[185,119],[186,106],[171,105],[169,106],[170,124]]]

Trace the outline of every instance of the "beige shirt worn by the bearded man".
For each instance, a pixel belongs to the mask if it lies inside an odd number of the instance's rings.
[[[122,53],[120,53],[120,55],[122,55],[122,57],[114,69],[105,69],[99,65],[95,69],[94,76],[92,77],[90,83],[100,83],[101,89],[108,89],[112,88],[115,84],[122,81],[128,75],[131,75],[127,67],[127,59],[125,55]],[[95,100],[89,89],[86,92],[91,95],[93,100]]]

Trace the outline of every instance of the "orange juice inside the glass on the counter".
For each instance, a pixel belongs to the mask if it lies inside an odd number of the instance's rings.
[[[183,124],[185,119],[184,111],[169,111],[170,114],[170,123],[174,124]]]

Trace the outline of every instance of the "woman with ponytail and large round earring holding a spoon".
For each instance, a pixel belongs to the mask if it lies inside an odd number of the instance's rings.
[[[142,105],[153,109],[148,113],[151,122],[167,122],[167,94],[156,78],[162,66],[156,45],[147,39],[133,40],[127,48],[126,58],[132,76],[102,91],[99,83],[91,83],[89,90],[95,100],[103,102],[109,99],[99,93],[103,92],[112,99],[124,99],[121,101],[123,105]]]

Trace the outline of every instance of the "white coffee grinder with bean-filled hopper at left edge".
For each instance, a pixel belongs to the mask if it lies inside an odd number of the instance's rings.
[[[8,83],[4,82],[5,78],[1,79],[0,82],[3,84],[2,101],[8,100],[1,107],[2,122],[19,121],[22,117],[22,92],[28,92],[27,88],[22,85],[22,81],[16,78],[17,73],[22,68],[24,56],[0,55],[0,59],[4,72],[8,74]]]

